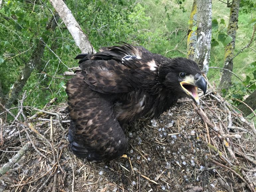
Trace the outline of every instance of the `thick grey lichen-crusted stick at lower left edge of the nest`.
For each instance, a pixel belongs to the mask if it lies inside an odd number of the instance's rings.
[[[0,177],[4,175],[7,171],[9,171],[15,163],[17,163],[20,158],[30,149],[31,144],[27,143],[24,145],[24,147],[11,159],[9,159],[9,162],[4,164],[3,167],[0,169]]]

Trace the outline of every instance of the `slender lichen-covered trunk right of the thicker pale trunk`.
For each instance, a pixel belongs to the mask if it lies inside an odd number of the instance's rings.
[[[228,69],[233,71],[233,57],[234,57],[234,49],[235,49],[235,37],[237,30],[237,22],[238,22],[238,14],[239,14],[239,6],[241,0],[233,0],[230,7],[230,17],[227,28],[227,35],[232,37],[232,41],[226,45],[225,47],[225,56],[224,56],[224,69]],[[232,73],[228,70],[223,70],[221,80],[219,83],[220,90],[225,89],[226,91],[231,86],[231,75]]]

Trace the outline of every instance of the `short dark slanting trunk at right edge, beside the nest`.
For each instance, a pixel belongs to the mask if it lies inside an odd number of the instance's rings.
[[[256,109],[255,101],[256,101],[256,90],[254,90],[252,92],[252,94],[250,94],[249,97],[247,97],[244,100],[244,103],[246,103],[246,105],[248,105],[254,111]],[[243,112],[245,117],[252,113],[252,110],[249,107],[247,107],[246,105],[241,103],[240,105],[237,106],[237,108]]]

